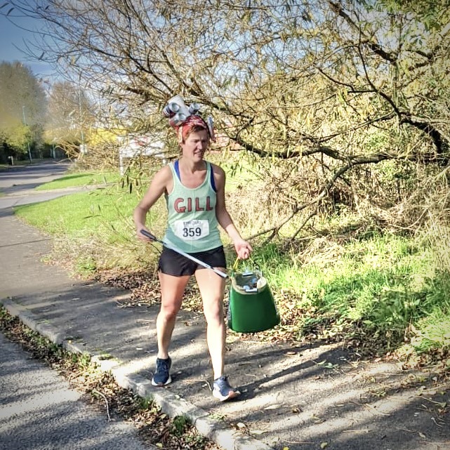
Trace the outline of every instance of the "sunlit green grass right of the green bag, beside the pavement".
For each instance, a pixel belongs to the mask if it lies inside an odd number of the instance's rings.
[[[415,350],[450,348],[450,277],[425,244],[380,234],[343,245],[331,241],[306,262],[274,244],[253,257],[298,336],[324,326],[340,336],[358,329],[392,350],[412,325]]]

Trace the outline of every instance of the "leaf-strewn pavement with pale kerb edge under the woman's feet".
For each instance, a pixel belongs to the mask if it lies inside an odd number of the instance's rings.
[[[432,403],[448,402],[450,388],[425,386],[418,397],[414,383],[404,387],[411,373],[364,362],[339,345],[265,343],[230,332],[227,373],[243,394],[217,402],[204,318],[192,312],[180,313],[173,334],[173,383],[153,388],[158,307],[125,307],[127,291],[72,279],[42,263],[51,239],[11,208],[0,210],[0,233],[0,297],[11,314],[68,350],[91,353],[120,385],[154,397],[170,415],[190,417],[224,449],[450,448],[449,415],[439,416]],[[376,395],[380,390],[384,395]],[[423,395],[430,400],[426,409]]]

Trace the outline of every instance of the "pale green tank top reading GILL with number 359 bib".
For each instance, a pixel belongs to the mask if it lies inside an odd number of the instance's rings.
[[[204,182],[193,189],[181,183],[178,161],[170,163],[169,167],[173,190],[166,194],[168,224],[164,241],[186,253],[220,247],[222,241],[216,217],[216,190],[211,185],[211,164],[206,162]]]

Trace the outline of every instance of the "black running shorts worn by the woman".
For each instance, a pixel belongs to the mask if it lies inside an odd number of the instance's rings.
[[[211,267],[223,267],[224,269],[227,267],[223,246],[220,246],[217,249],[189,254],[194,256],[194,258],[211,265]],[[173,275],[174,277],[182,277],[183,275],[193,275],[197,269],[204,268],[206,267],[163,246],[158,266],[158,270],[162,273]]]

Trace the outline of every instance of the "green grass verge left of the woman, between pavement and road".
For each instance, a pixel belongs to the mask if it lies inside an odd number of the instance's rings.
[[[64,183],[70,180],[78,183],[79,178],[65,177]],[[49,258],[71,259],[74,272],[89,275],[111,267],[143,266],[154,258],[155,249],[143,246],[135,237],[132,214],[142,194],[143,187],[130,190],[126,183],[113,183],[89,192],[18,206],[15,214],[53,235],[55,254]],[[160,216],[155,211],[149,214],[148,222],[153,223],[154,232],[161,232],[164,225],[164,216]]]

